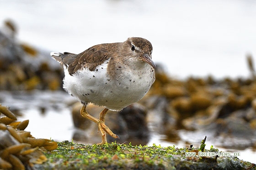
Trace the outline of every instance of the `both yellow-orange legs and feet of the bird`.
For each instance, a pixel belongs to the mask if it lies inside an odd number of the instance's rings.
[[[83,105],[83,107],[80,110],[80,114],[81,114],[82,117],[87,118],[87,119],[95,122],[98,125],[98,128],[101,131],[101,135],[102,135],[102,142],[100,144],[106,144],[107,143],[106,132],[107,132],[107,134],[109,134],[113,138],[119,138],[119,136],[114,134],[105,124],[105,116],[106,116],[107,111],[108,111],[107,108],[102,110],[102,112],[100,113],[100,120],[99,120],[99,119],[91,116],[86,111],[86,106],[85,105]]]

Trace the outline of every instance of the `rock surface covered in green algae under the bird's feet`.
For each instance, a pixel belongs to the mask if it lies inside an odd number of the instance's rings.
[[[196,148],[175,148],[133,146],[131,144],[85,145],[69,141],[58,142],[58,148],[45,155],[48,158],[41,165],[35,165],[38,170],[44,169],[139,169],[139,170],[176,170],[176,169],[256,169],[255,164],[239,160],[236,157],[186,157],[186,152]],[[205,152],[216,152],[211,148]]]

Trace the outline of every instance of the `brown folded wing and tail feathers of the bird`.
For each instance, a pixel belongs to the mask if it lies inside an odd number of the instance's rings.
[[[92,46],[80,54],[64,52],[64,54],[59,53],[59,56],[56,53],[52,56],[62,65],[68,67],[69,74],[72,75],[83,68],[94,71],[98,65],[109,59],[107,46],[108,44],[100,44]]]

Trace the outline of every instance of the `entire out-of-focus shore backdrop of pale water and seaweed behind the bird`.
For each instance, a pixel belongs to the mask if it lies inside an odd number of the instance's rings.
[[[96,125],[77,122],[79,103],[61,89],[63,70],[49,53],[139,36],[153,45],[157,80],[139,105],[107,114],[122,123],[113,122],[117,134],[177,147],[198,147],[207,135],[206,148],[256,163],[255,21],[253,0],[0,0],[0,103],[29,119],[36,138],[97,143]],[[129,124],[131,113],[143,127]]]

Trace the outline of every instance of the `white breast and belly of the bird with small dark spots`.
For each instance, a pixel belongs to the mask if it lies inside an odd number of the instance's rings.
[[[139,101],[155,81],[155,72],[146,63],[142,69],[123,69],[118,77],[107,74],[108,60],[95,71],[79,70],[73,76],[65,70],[64,89],[83,103],[94,103],[111,110],[121,110]]]

